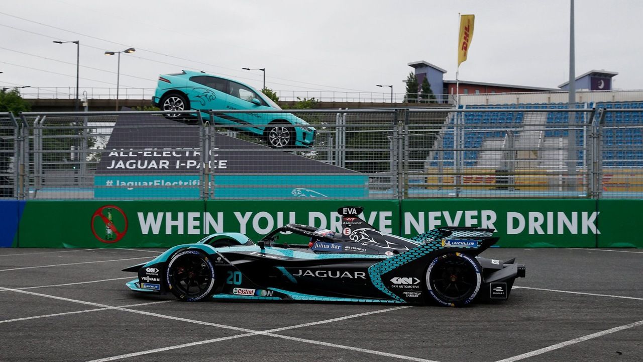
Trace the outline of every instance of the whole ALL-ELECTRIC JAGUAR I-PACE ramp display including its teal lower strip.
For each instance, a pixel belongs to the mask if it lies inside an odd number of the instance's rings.
[[[118,116],[94,177],[96,198],[199,198],[202,126]],[[217,198],[366,197],[368,176],[215,133],[208,166]]]

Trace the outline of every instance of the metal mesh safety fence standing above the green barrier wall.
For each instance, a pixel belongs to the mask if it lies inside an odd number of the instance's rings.
[[[626,104],[0,113],[0,197],[642,198]]]

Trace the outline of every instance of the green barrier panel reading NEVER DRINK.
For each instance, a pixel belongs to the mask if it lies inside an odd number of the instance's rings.
[[[501,247],[595,247],[594,200],[403,200],[403,236],[440,226],[493,227]]]

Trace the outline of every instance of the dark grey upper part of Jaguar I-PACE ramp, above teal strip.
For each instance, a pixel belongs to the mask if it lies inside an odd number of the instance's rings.
[[[201,169],[196,165],[203,160],[202,130],[201,125],[159,115],[120,115],[105,146],[109,153],[102,155],[96,174],[197,175]],[[211,159],[217,174],[359,174],[219,133],[213,137]]]

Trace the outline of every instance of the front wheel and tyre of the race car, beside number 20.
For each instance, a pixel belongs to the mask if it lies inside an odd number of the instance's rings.
[[[183,301],[199,301],[212,294],[214,266],[206,254],[194,249],[179,251],[167,265],[168,289]]]

